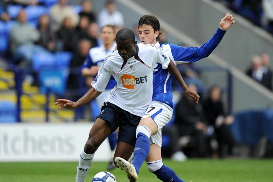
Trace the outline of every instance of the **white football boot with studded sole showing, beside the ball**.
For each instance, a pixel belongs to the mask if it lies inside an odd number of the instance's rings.
[[[125,171],[130,182],[137,181],[137,171],[133,164],[130,164],[127,160],[120,157],[115,158],[115,163],[121,170]]]

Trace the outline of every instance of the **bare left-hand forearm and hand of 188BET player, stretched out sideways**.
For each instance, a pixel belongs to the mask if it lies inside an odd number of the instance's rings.
[[[77,107],[80,107],[92,100],[94,100],[96,97],[98,97],[102,92],[98,92],[94,88],[91,88],[86,92],[82,98],[80,98],[77,102],[72,102],[71,100],[67,99],[58,99],[55,105],[58,105],[59,109],[67,108],[67,109],[76,109]]]

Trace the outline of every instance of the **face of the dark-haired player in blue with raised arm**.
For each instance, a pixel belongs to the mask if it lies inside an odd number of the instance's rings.
[[[138,37],[141,43],[143,44],[156,44],[156,38],[159,34],[157,30],[154,32],[154,29],[151,25],[142,25],[138,27]]]

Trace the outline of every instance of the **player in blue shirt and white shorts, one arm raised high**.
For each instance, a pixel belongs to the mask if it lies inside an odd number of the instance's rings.
[[[226,30],[235,23],[229,13],[220,21],[219,28],[208,42],[201,47],[181,47],[160,44],[160,23],[153,15],[144,15],[138,22],[138,33],[142,44],[154,44],[175,61],[175,64],[195,62],[208,57],[218,46]],[[173,112],[171,83],[173,76],[163,70],[160,64],[154,68],[152,102],[137,127],[134,160],[132,164],[116,157],[115,164],[124,170],[131,182],[137,181],[140,166],[146,160],[148,170],[164,182],[184,182],[176,173],[165,166],[161,157],[161,129],[169,122]],[[183,88],[187,94],[188,88]],[[193,97],[194,98],[194,97]],[[199,99],[198,99],[199,100]],[[198,100],[195,102],[198,104]]]

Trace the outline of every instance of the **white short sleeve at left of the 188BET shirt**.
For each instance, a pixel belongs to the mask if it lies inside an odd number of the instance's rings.
[[[109,58],[108,58],[109,59]],[[91,83],[92,87],[98,92],[103,92],[109,82],[110,77],[112,76],[112,69],[110,66],[110,61],[107,58],[104,60],[102,65],[100,66],[98,75]]]

